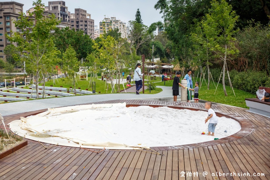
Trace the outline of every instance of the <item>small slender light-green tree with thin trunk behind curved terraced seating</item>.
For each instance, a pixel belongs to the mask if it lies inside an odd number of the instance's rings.
[[[69,45],[65,53],[63,53],[63,61],[65,62],[63,70],[68,72],[68,76],[72,78],[72,87],[74,87],[74,94],[76,95],[75,78],[77,72],[79,72],[80,63],[78,62],[77,54],[71,45]]]

